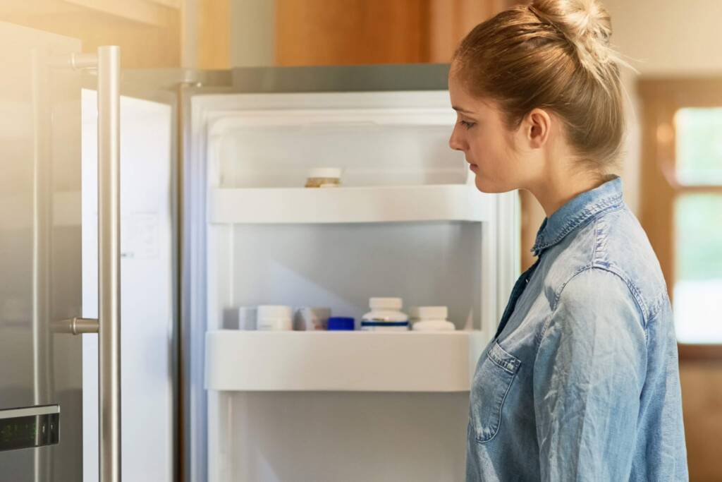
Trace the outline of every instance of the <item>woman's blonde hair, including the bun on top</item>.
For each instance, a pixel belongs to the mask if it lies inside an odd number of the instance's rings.
[[[483,22],[456,49],[452,74],[471,95],[495,100],[510,129],[534,108],[563,122],[586,168],[614,167],[625,133],[612,22],[597,0],[534,0]]]

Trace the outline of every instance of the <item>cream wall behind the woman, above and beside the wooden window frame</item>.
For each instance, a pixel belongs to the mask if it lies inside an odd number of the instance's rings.
[[[612,43],[642,76],[722,74],[720,0],[602,0],[612,16]],[[636,82],[625,72],[633,110],[628,109],[625,197],[639,207],[640,110]]]

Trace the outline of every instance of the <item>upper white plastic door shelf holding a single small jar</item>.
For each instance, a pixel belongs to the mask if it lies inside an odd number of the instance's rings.
[[[216,188],[211,223],[393,223],[489,219],[490,197],[466,184],[338,188]]]

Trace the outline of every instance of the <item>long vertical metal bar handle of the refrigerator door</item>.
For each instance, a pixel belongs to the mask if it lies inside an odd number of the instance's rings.
[[[97,49],[100,482],[121,482],[121,49]]]

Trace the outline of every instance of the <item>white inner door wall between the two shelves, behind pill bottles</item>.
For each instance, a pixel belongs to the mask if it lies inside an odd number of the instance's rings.
[[[372,296],[448,306],[458,330],[479,327],[482,233],[478,223],[231,225],[216,228],[227,265],[214,306],[222,327],[237,308],[327,306],[357,320]],[[219,259],[219,262],[221,260]],[[213,280],[209,280],[213,283]],[[212,287],[212,285],[209,285]],[[215,317],[213,317],[215,319]]]

